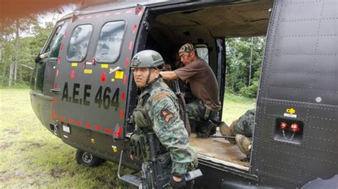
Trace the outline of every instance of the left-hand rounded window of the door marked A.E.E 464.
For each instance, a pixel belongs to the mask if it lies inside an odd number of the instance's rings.
[[[93,26],[81,25],[77,26],[71,34],[71,41],[68,45],[67,58],[70,61],[82,61],[86,58],[89,40],[91,39],[91,33]]]

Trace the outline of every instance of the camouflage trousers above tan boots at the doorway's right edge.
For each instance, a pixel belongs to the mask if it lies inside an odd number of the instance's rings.
[[[243,114],[240,119],[235,121],[234,136],[242,134],[247,137],[252,137],[252,132],[255,126],[255,109],[249,109]]]

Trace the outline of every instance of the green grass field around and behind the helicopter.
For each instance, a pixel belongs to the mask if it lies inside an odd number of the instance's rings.
[[[0,188],[127,188],[116,164],[87,168],[75,160],[76,149],[63,144],[36,118],[29,90],[0,89]],[[231,123],[252,99],[226,95],[223,120]]]

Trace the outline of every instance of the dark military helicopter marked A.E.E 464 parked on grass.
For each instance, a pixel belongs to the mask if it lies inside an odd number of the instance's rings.
[[[299,188],[337,179],[338,1],[85,2],[56,23],[30,92],[36,116],[78,149],[78,163],[140,171],[127,153],[135,53],[158,50],[170,61],[180,45],[195,44],[207,52],[223,99],[225,38],[267,36],[250,162],[224,139],[192,134],[203,172],[195,186]],[[140,185],[135,175],[118,175]]]

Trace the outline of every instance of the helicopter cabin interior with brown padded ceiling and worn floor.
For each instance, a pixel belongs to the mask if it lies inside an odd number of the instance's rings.
[[[173,69],[175,53],[180,45],[193,43],[199,57],[210,65],[216,75],[223,109],[227,106],[223,104],[225,72],[221,71],[226,66],[225,38],[266,36],[272,3],[255,1],[221,6],[204,5],[188,10],[186,7],[150,8],[146,20],[148,29],[140,35],[147,36],[144,48],[157,50]],[[220,39],[221,45],[217,39]],[[184,89],[181,92],[188,103],[191,100],[189,92]],[[218,129],[215,135],[221,136]],[[198,139],[195,136],[191,134],[190,145],[198,151],[200,158],[249,171],[250,162],[241,161],[246,156],[235,144],[222,138]]]

